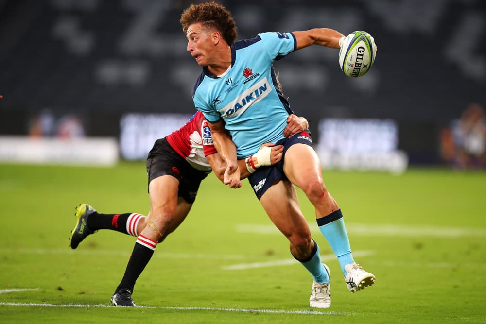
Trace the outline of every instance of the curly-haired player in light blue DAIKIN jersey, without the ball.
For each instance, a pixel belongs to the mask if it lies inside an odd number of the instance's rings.
[[[180,23],[188,40],[187,51],[203,68],[193,100],[209,122],[216,149],[226,159],[224,182],[230,188],[241,187],[237,159],[246,158],[252,173],[248,179],[261,205],[289,239],[292,255],[312,274],[310,306],[330,307],[330,273],[300,210],[295,186],[314,206],[319,229],[339,261],[349,291],[372,285],[375,276],[354,262],[341,209],[324,185],[310,132],[288,138],[282,135],[292,111],[272,66],[275,60],[310,45],[338,49],[345,36],[316,28],[260,33],[236,41],[231,13],[215,2],[191,5]],[[251,155],[265,142],[284,145],[284,156],[274,166],[256,169],[258,160]]]

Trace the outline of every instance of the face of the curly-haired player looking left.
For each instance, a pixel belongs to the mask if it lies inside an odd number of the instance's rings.
[[[204,28],[201,23],[195,23],[187,29],[186,37],[187,51],[196,59],[197,64],[202,67],[207,66],[214,50],[211,32]]]

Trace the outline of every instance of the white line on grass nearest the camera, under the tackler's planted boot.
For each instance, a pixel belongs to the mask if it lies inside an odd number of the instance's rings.
[[[111,305],[89,305],[89,304],[40,304],[40,303],[6,303],[0,302],[5,306],[41,306],[41,307],[114,307]],[[132,307],[127,307],[132,308]],[[218,307],[175,307],[175,306],[136,306],[137,308],[159,308],[177,310],[215,310],[226,312],[250,312],[250,313],[270,313],[270,314],[301,314],[301,315],[348,315],[350,313],[320,312],[315,310],[280,310],[280,309],[247,309],[247,308],[218,308]]]

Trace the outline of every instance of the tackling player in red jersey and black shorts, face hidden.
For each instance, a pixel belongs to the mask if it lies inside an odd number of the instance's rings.
[[[286,136],[308,127],[303,117],[290,115]],[[252,169],[277,163],[283,146],[262,145],[252,155]],[[245,160],[239,161],[242,177],[250,174]],[[76,249],[88,235],[100,229],[111,229],[137,237],[132,254],[120,284],[110,303],[114,306],[135,306],[132,293],[135,282],[162,242],[186,218],[195,201],[201,181],[214,170],[223,181],[225,160],[214,148],[208,122],[197,112],[179,130],[157,139],[147,157],[147,175],[150,194],[150,212],[147,217],[138,213],[101,214],[90,205],[76,207],[76,225],[71,231],[70,246]]]

